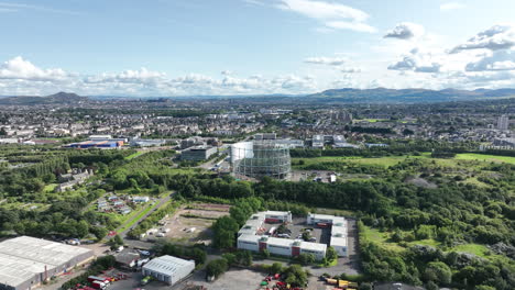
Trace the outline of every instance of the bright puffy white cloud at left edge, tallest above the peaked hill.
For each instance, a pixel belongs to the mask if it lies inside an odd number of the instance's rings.
[[[34,81],[57,81],[69,77],[61,68],[41,69],[31,62],[17,56],[0,66],[0,79],[25,79]]]

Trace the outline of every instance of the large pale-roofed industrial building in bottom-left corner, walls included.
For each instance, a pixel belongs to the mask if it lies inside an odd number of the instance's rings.
[[[94,259],[91,249],[20,236],[0,243],[0,289],[33,289]]]

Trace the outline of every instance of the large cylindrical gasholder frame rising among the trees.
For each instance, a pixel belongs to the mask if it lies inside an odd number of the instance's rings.
[[[233,144],[231,164],[237,177],[284,179],[292,171],[289,147],[274,140]]]

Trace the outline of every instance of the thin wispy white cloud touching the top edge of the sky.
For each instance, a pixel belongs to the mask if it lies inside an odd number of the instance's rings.
[[[244,2],[259,5],[266,3],[259,0],[244,0]],[[366,23],[370,18],[366,12],[341,3],[321,0],[273,0],[272,5],[320,22],[324,26],[317,29],[317,31],[376,32],[375,27]]]

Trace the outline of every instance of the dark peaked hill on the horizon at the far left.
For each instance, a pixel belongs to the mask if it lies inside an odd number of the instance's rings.
[[[86,97],[80,97],[76,93],[70,92],[57,92],[46,97],[36,96],[18,96],[18,97],[6,97],[0,99],[0,104],[19,104],[19,105],[32,105],[32,104],[57,104],[57,103],[79,103],[88,101]]]

